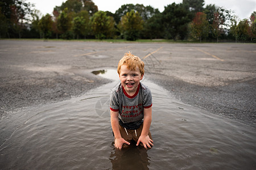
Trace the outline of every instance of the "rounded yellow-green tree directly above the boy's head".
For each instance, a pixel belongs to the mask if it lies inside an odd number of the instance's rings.
[[[143,29],[143,20],[139,12],[131,10],[122,17],[120,25],[125,39],[135,41],[139,38],[139,31]]]

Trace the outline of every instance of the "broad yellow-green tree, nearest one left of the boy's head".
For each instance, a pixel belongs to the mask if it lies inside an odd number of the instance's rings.
[[[90,19],[90,25],[97,39],[101,40],[114,36],[114,18],[106,15],[104,11],[96,12]]]

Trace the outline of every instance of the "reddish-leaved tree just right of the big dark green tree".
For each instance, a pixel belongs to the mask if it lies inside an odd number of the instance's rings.
[[[203,12],[197,12],[195,18],[190,24],[191,36],[194,39],[200,39],[207,37],[209,33],[209,23],[207,21],[207,15]]]

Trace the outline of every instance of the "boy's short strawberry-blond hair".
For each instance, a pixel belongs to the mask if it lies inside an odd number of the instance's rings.
[[[122,65],[126,65],[127,69],[129,70],[136,70],[136,67],[138,67],[141,75],[144,75],[144,62],[141,60],[141,58],[131,54],[131,52],[125,53],[125,56],[123,56],[123,58],[121,58],[118,62],[117,73],[119,75]]]

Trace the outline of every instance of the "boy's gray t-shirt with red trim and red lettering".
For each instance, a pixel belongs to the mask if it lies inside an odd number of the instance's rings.
[[[143,122],[143,109],[151,106],[151,91],[142,83],[133,96],[126,93],[121,83],[113,88],[110,95],[110,109],[119,112],[119,124],[126,129],[138,129]]]

